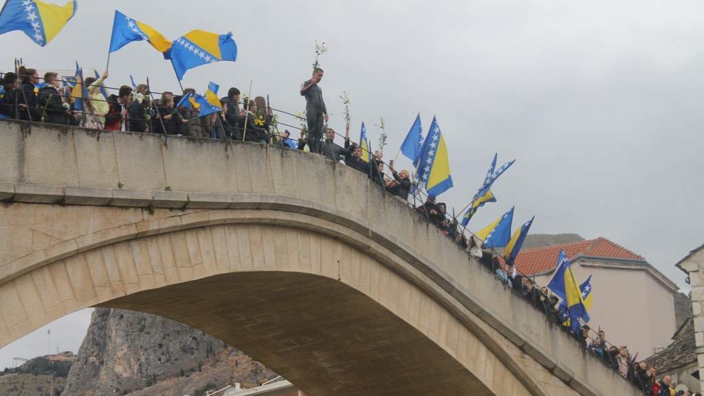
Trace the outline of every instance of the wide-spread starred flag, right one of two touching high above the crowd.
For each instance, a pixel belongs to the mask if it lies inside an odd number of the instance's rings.
[[[191,68],[220,61],[237,61],[237,44],[232,33],[218,35],[203,30],[193,30],[173,42],[171,49],[164,53],[176,72],[176,77],[183,80],[183,75]]]

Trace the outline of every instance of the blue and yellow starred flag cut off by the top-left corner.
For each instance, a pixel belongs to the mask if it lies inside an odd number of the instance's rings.
[[[21,30],[44,47],[73,18],[76,9],[75,1],[57,6],[39,0],[7,0],[0,11],[0,35]]]

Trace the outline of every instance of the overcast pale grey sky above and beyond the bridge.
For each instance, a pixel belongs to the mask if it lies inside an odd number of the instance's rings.
[[[238,61],[190,70],[184,85],[202,92],[213,81],[224,96],[251,80],[252,96],[291,112],[304,107],[298,87],[313,43],[325,42],[331,126],[344,129],[346,90],[353,138],[364,121],[375,145],[383,116],[389,159],[418,112],[425,130],[436,115],[455,182],[439,199],[448,206],[469,202],[494,152],[501,163],[517,159],[470,229],[515,205],[514,226],[535,215],[533,233],[607,237],[686,287],[674,264],[704,242],[700,1],[83,0],[44,49],[20,32],[1,36],[0,67],[21,56],[42,70],[76,60],[104,68],[115,7],[172,39],[232,31]],[[146,43],[115,52],[110,73],[111,86],[132,74],[149,76],[154,91],[178,90],[170,63]],[[77,350],[88,318],[52,325],[61,349]],[[0,366],[45,353],[46,330],[38,333],[0,349]]]

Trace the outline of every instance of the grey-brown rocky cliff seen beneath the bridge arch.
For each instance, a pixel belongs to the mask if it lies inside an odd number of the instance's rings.
[[[216,338],[160,316],[96,309],[63,396],[197,395],[275,373]]]

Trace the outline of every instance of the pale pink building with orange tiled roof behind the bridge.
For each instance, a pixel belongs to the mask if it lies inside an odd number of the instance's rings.
[[[643,256],[604,237],[525,249],[516,266],[539,285],[547,285],[560,249],[569,257],[577,282],[592,276],[591,328],[601,328],[609,342],[627,345],[639,359],[670,345],[676,330],[673,294],[679,289],[672,280]]]

